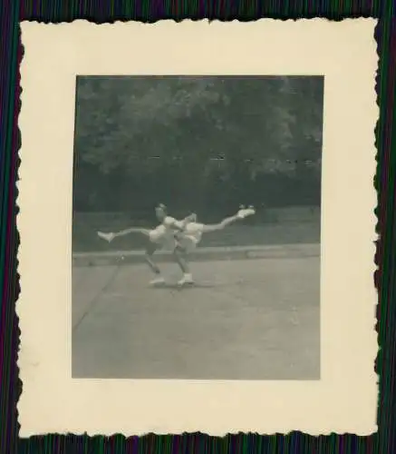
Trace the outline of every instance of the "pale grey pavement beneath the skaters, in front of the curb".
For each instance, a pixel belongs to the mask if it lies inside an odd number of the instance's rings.
[[[319,257],[192,266],[181,291],[150,289],[140,264],[74,268],[72,376],[319,378]]]

